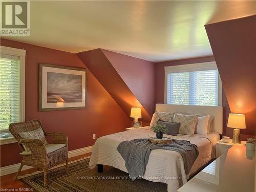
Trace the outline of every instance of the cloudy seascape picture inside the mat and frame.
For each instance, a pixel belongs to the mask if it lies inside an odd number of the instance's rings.
[[[47,102],[82,102],[82,76],[47,73]]]

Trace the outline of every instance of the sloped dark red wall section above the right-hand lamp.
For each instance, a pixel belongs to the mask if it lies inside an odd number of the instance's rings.
[[[255,135],[256,15],[205,28],[230,111],[245,114],[246,129],[241,130],[242,134]]]

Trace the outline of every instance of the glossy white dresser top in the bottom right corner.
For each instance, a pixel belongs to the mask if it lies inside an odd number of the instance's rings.
[[[254,191],[254,154],[255,151],[246,151],[245,145],[232,146],[178,192]]]

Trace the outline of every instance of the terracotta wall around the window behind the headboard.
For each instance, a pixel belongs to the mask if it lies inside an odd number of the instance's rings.
[[[164,103],[164,67],[186,65],[191,63],[210,62],[215,61],[214,56],[197,57],[173,61],[158,62],[155,65],[155,103]],[[223,136],[232,137],[232,132],[228,132],[227,128],[227,115],[229,112],[229,105],[226,99],[225,91],[222,89],[222,106],[223,106]],[[231,130],[231,129],[230,129]],[[232,131],[232,130],[231,130]]]

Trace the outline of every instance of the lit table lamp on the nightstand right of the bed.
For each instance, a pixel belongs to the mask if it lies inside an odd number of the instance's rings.
[[[244,114],[230,113],[228,116],[227,126],[234,128],[232,143],[241,143],[239,129],[245,129]]]

